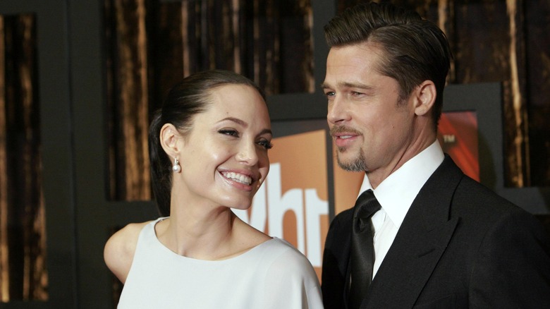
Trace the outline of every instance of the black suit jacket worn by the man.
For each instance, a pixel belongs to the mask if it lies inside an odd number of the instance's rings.
[[[325,308],[346,308],[352,210],[331,222]],[[550,308],[550,241],[531,214],[444,162],[412,202],[361,308]]]

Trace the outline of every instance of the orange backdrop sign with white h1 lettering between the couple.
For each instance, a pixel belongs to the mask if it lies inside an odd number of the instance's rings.
[[[260,231],[293,244],[321,274],[329,228],[326,131],[274,138],[271,167],[247,211],[236,214]]]

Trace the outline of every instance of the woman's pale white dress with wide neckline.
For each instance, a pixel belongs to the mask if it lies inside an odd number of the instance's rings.
[[[309,260],[272,238],[227,260],[173,253],[147,224],[138,238],[118,308],[323,308]]]

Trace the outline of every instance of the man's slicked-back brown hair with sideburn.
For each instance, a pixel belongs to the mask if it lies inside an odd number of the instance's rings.
[[[324,32],[329,47],[362,43],[378,47],[377,71],[398,81],[400,101],[424,80],[432,80],[436,86],[432,109],[436,130],[453,58],[441,29],[415,11],[373,2],[347,8],[325,25]]]

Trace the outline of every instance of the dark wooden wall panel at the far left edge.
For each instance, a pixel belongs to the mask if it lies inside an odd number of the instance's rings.
[[[46,301],[35,16],[0,16],[0,301]]]

